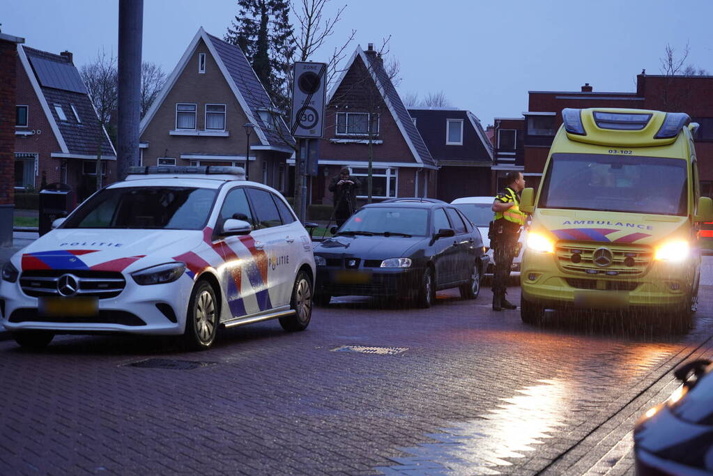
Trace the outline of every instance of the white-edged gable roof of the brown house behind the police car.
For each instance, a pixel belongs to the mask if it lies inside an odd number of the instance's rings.
[[[284,149],[285,152],[292,151],[291,146],[294,145],[294,139],[289,134],[289,129],[287,125],[285,125],[282,117],[277,121],[279,131],[269,128],[268,125],[262,121],[262,118],[260,118],[260,110],[275,110],[275,107],[272,105],[270,96],[267,95],[267,91],[262,86],[262,83],[257,79],[255,71],[252,69],[252,66],[250,66],[250,62],[245,58],[245,54],[242,53],[239,47],[208,34],[202,27],[195,33],[193,41],[191,41],[188,48],[186,48],[158,97],[151,105],[143,120],[141,120],[140,134],[143,134],[148,123],[153,119],[153,116],[156,111],[158,111],[158,108],[160,108],[160,105],[165,100],[169,91],[173,88],[175,82],[178,81],[180,74],[183,73],[190,58],[193,57],[196,48],[198,48],[198,43],[201,40],[205,43],[208,51],[210,51],[210,55],[215,63],[217,63],[218,68],[220,68],[222,76],[225,78],[228,86],[230,86],[237,102],[247,116],[247,120],[255,124],[255,133],[260,139],[260,143],[267,148],[276,150]]]

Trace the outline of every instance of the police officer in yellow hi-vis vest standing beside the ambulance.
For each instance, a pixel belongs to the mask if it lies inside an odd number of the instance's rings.
[[[520,228],[525,224],[525,213],[520,212],[520,192],[525,188],[525,178],[520,172],[508,172],[506,180],[508,185],[493,200],[495,217],[489,234],[495,257],[493,311],[517,308],[505,299],[505,294],[513,258],[517,252]]]

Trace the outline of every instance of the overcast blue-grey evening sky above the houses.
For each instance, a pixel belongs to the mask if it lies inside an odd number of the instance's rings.
[[[443,91],[483,126],[520,117],[528,90],[633,91],[637,73],[660,73],[670,44],[688,44],[687,63],[713,73],[713,1],[688,0],[332,0],[347,4],[329,47],[312,58],[327,61],[352,29],[355,41],[381,44],[401,65],[401,95]],[[168,74],[202,26],[222,37],[237,14],[235,0],[145,0],[143,61]],[[74,63],[117,52],[118,0],[0,1],[2,33],[26,45],[74,53]]]

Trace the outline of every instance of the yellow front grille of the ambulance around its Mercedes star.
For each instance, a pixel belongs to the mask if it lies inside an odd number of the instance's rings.
[[[597,266],[594,252],[606,248],[611,252],[611,264]],[[653,259],[649,247],[622,246],[615,243],[559,242],[555,247],[563,271],[580,276],[635,277],[645,274]]]

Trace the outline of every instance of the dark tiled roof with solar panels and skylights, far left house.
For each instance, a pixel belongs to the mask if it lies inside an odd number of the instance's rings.
[[[18,55],[48,123],[67,157],[116,160],[77,68],[65,56],[18,45]],[[57,106],[66,120],[59,117]],[[77,120],[77,117],[79,120]],[[81,122],[80,122],[81,121]]]

